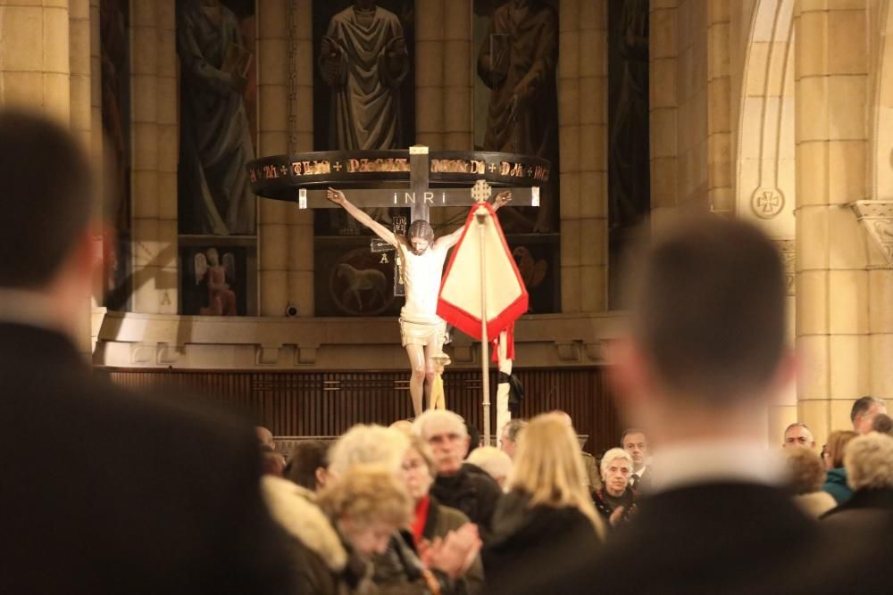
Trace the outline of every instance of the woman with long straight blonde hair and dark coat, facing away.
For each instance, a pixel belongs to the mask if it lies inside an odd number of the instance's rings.
[[[513,592],[515,584],[532,592],[531,580],[547,585],[594,555],[605,529],[584,473],[580,443],[563,416],[531,419],[494,515],[494,537],[483,550],[488,583],[501,592]]]

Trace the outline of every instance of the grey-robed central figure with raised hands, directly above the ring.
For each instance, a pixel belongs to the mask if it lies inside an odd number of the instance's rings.
[[[401,148],[400,85],[409,73],[409,53],[399,17],[375,0],[355,0],[329,21],[319,66],[331,87],[329,148]],[[366,212],[390,223],[387,208]],[[355,220],[344,213],[332,211],[330,217],[342,233],[359,233]]]

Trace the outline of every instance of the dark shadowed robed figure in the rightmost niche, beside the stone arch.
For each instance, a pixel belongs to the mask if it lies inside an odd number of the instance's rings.
[[[608,140],[608,220],[612,229],[634,227],[647,214],[648,177],[648,0],[614,3],[609,73],[612,114]],[[613,83],[613,84],[612,84]]]

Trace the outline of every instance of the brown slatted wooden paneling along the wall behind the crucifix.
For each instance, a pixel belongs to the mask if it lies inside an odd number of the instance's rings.
[[[280,436],[342,434],[358,423],[388,425],[413,414],[408,375],[404,372],[249,372],[204,370],[105,369],[115,384],[153,389],[164,394],[188,393],[238,409]],[[605,368],[561,370],[519,369],[524,384],[522,417],[562,409],[571,414],[580,434],[588,434],[584,450],[600,454],[617,444],[619,425]],[[444,376],[447,407],[472,426],[483,426],[480,372],[450,370]],[[496,428],[496,373],[490,428]]]

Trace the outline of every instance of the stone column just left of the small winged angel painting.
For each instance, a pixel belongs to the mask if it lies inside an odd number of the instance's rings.
[[[130,32],[135,312],[176,313],[177,95],[173,3],[132,0]]]

